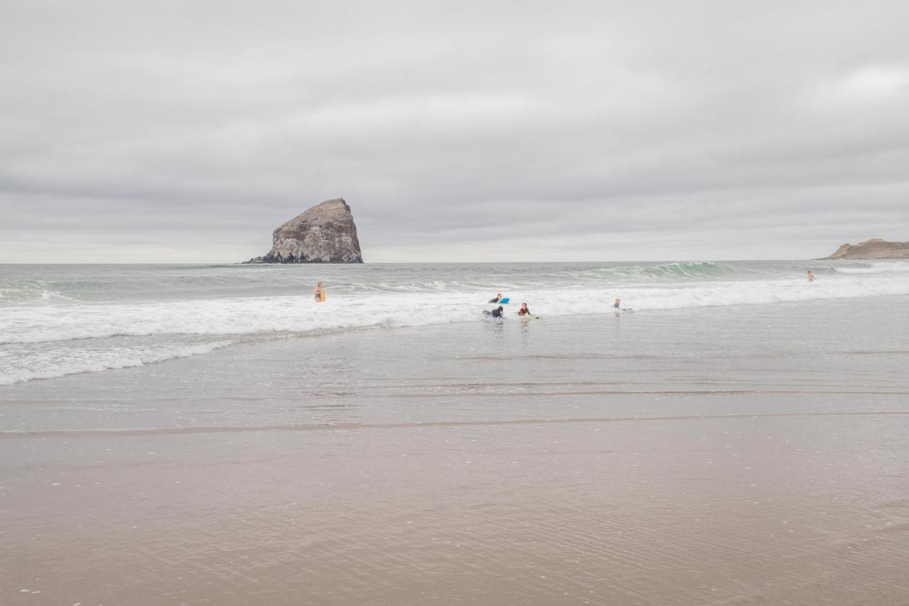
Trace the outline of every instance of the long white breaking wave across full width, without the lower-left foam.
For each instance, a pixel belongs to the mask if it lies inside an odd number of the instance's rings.
[[[488,291],[372,293],[329,292],[325,304],[305,297],[251,297],[6,308],[0,344],[155,335],[307,333],[369,326],[421,326],[477,318]],[[550,316],[608,311],[621,297],[636,309],[701,308],[909,294],[909,275],[842,276],[809,284],[786,280],[708,281],[684,286],[516,288],[513,303],[528,302]],[[485,306],[489,307],[489,306]]]

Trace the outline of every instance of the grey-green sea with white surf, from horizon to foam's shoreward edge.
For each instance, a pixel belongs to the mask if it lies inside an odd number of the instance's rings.
[[[811,268],[818,280],[805,278]],[[328,298],[312,289],[324,281]],[[548,318],[909,294],[906,261],[0,266],[0,385],[251,341],[483,320],[495,293]],[[746,312],[745,312],[746,313]]]

